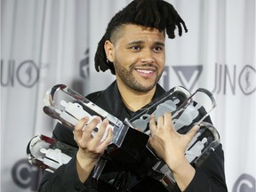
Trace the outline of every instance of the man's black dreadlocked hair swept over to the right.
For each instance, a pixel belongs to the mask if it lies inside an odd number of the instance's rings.
[[[180,18],[172,4],[163,0],[133,0],[109,21],[106,33],[100,39],[94,57],[95,68],[98,72],[110,69],[111,73],[116,75],[113,63],[107,59],[104,44],[111,39],[116,29],[124,24],[157,28],[159,31],[165,30],[167,36],[171,39],[175,37],[176,27],[179,36],[182,36],[182,27],[186,33],[188,32],[185,22]]]

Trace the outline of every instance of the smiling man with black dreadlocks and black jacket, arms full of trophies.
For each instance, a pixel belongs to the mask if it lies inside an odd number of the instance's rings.
[[[124,120],[160,97],[165,92],[157,84],[164,71],[165,32],[174,38],[176,27],[180,36],[182,27],[187,32],[172,4],[162,0],[132,1],[117,12],[95,55],[96,70],[110,69],[116,75],[116,81],[106,90],[93,92],[86,98]],[[140,177],[112,162],[108,162],[100,180],[93,180],[93,168],[113,139],[113,132],[108,129],[107,138],[101,140],[108,128],[108,120],[104,120],[100,131],[92,138],[92,130],[99,124],[100,117],[89,124],[88,121],[86,116],[81,119],[74,134],[57,124],[53,137],[78,147],[78,152],[56,172],[44,173],[40,191],[167,191],[159,181]],[[173,128],[170,113],[160,116],[157,122],[152,116],[148,143],[172,170],[176,180],[172,191],[227,191],[221,145],[200,167],[193,167],[184,156],[197,130],[195,126],[188,133],[180,134]]]

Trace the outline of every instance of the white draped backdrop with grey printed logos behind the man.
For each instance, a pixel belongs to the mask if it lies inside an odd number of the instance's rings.
[[[26,148],[52,135],[44,93],[54,84],[104,89],[115,76],[93,66],[108,21],[128,0],[1,0],[1,189],[36,191],[40,172]],[[170,0],[188,34],[167,40],[160,84],[212,91],[213,124],[225,150],[228,191],[255,191],[255,0]]]

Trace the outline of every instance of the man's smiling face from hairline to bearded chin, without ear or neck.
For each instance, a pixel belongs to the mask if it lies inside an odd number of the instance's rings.
[[[156,28],[125,25],[114,43],[116,81],[137,92],[152,90],[164,70],[164,40]]]

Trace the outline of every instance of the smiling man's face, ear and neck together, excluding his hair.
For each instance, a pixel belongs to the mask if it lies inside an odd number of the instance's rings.
[[[107,58],[113,63],[116,84],[125,106],[132,111],[153,98],[164,71],[164,32],[156,28],[125,24],[105,42]]]

